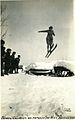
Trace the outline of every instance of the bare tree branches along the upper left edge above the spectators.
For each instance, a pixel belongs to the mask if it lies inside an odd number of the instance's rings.
[[[4,2],[1,2],[1,39],[5,39],[8,30],[8,16],[7,16],[7,6]]]

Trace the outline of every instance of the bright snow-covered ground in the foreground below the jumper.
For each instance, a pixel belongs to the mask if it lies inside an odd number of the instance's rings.
[[[75,76],[1,77],[1,116],[75,116]]]

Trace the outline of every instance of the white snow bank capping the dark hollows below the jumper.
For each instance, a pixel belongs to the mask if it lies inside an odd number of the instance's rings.
[[[36,69],[53,69],[54,66],[63,66],[66,67],[67,69],[70,69],[71,71],[73,71],[75,73],[75,63],[72,61],[62,61],[62,60],[58,60],[58,61],[50,61],[49,63],[47,62],[35,62],[35,63],[31,63],[30,65],[28,65],[26,67],[26,69],[30,69],[30,68],[36,68]]]

